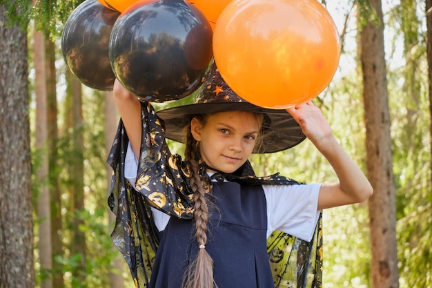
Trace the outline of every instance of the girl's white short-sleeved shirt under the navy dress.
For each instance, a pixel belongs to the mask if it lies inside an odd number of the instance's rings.
[[[138,160],[130,144],[124,169],[126,179],[135,187]],[[262,185],[267,204],[267,237],[279,230],[311,241],[320,217],[317,210],[320,187],[321,184]],[[151,209],[157,229],[163,231],[170,216],[153,207]]]

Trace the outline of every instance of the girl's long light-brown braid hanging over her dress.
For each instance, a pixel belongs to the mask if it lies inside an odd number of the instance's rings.
[[[217,288],[213,278],[213,259],[206,251],[208,205],[202,178],[198,173],[198,163],[201,157],[199,144],[190,132],[190,122],[186,127],[185,160],[190,164],[190,187],[195,201],[195,237],[199,245],[197,258],[190,262],[185,273],[184,288]]]

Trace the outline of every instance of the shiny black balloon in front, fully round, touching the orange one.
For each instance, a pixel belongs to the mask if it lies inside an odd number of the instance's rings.
[[[112,70],[141,99],[181,99],[204,81],[213,31],[202,12],[183,0],[148,2],[122,14],[112,28]]]

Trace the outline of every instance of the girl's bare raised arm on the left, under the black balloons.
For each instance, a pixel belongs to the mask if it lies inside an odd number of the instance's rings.
[[[123,120],[130,146],[137,158],[141,148],[141,104],[136,95],[129,92],[119,80],[114,82],[114,99]]]

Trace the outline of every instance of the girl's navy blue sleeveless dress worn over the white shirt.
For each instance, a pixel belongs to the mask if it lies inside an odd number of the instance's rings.
[[[274,288],[266,251],[267,213],[262,186],[213,182],[206,249],[219,288]],[[164,231],[149,287],[180,288],[197,256],[195,224],[172,217]]]

